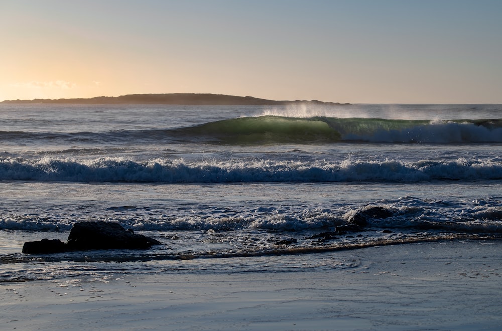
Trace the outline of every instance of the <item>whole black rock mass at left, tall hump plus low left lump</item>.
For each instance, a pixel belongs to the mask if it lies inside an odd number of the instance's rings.
[[[118,223],[80,222],[73,225],[66,244],[58,239],[26,242],[23,245],[23,253],[53,254],[96,249],[147,249],[160,244],[161,242],[155,239],[126,230]]]

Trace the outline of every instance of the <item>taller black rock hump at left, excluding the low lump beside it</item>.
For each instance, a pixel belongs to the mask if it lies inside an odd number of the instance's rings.
[[[126,230],[118,223],[80,222],[73,225],[68,236],[72,251],[90,249],[146,249],[160,242]]]

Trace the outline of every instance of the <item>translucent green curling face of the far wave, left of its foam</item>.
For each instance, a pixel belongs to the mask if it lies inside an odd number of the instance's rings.
[[[260,116],[226,119],[195,127],[183,133],[214,138],[222,143],[311,143],[340,140],[340,133],[320,118]]]

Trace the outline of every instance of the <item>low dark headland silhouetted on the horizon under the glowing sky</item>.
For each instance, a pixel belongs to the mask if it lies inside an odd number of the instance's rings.
[[[210,93],[166,93],[166,94],[127,94],[118,97],[94,97],[74,99],[33,99],[5,100],[0,103],[60,103],[60,104],[160,104],[160,105],[288,105],[295,103],[342,105],[338,102],[318,100],[277,101],[250,96],[240,97]],[[348,103],[343,103],[347,105]]]

